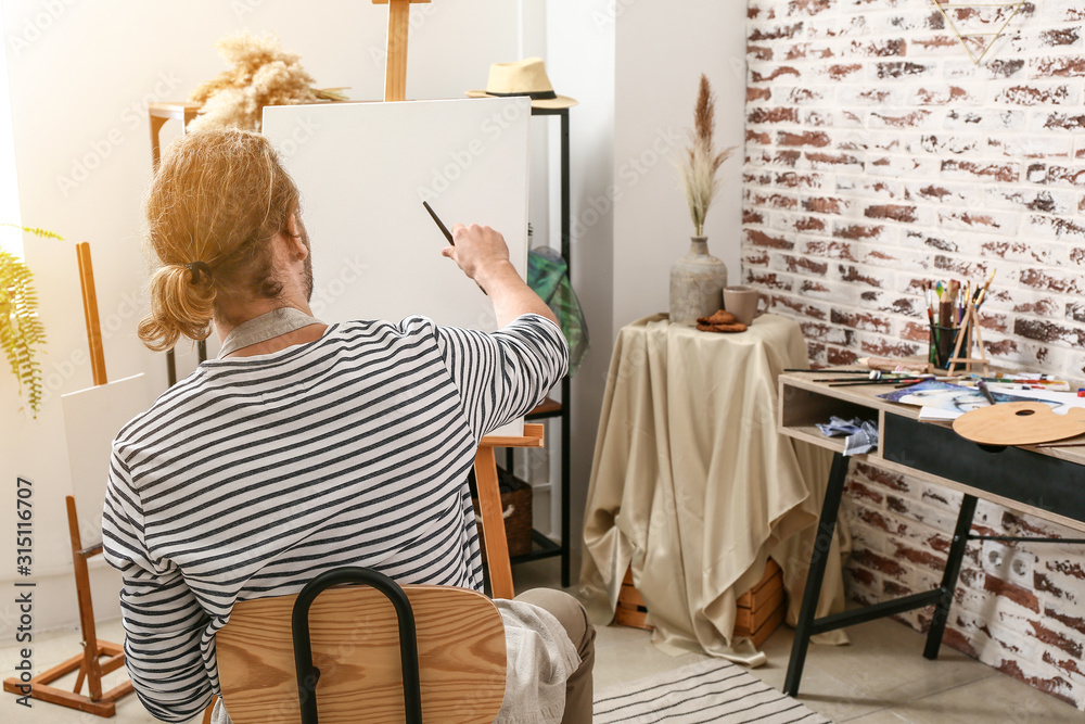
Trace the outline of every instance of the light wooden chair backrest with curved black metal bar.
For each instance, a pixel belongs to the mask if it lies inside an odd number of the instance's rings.
[[[400,587],[365,568],[238,604],[216,650],[234,724],[316,724],[318,703],[324,724],[493,722],[505,698],[505,625],[492,600]]]

